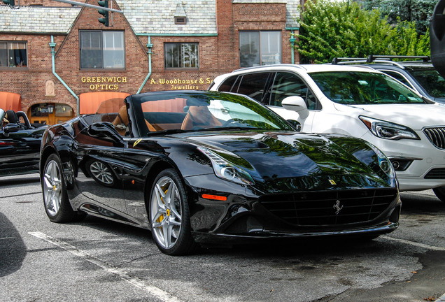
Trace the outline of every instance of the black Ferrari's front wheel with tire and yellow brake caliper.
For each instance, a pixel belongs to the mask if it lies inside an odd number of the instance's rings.
[[[164,254],[190,254],[195,250],[187,194],[174,169],[166,169],[155,178],[149,209],[153,238]]]

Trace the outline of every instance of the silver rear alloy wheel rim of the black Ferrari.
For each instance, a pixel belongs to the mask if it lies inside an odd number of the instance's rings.
[[[43,174],[45,208],[51,216],[57,215],[62,202],[62,175],[55,160],[49,161]]]

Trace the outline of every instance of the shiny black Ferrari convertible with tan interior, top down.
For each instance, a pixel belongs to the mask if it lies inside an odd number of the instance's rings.
[[[397,229],[390,161],[358,138],[302,134],[246,96],[149,92],[45,131],[52,222],[86,214],[150,229],[166,254],[202,243]]]

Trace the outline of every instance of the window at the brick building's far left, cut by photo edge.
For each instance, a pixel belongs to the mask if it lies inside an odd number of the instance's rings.
[[[22,41],[0,41],[0,67],[27,67],[28,47]]]

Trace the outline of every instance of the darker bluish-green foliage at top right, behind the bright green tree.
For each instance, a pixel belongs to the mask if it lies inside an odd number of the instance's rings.
[[[437,0],[364,0],[362,3],[367,10],[379,9],[390,24],[414,22],[418,34],[425,34]]]

